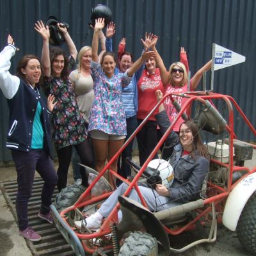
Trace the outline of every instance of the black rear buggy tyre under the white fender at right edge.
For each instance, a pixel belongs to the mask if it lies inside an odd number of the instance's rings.
[[[256,254],[256,192],[249,198],[237,224],[237,236],[242,246]]]

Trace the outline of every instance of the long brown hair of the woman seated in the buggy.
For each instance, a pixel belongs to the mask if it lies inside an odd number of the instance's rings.
[[[192,120],[188,120],[183,122],[182,124],[186,125],[188,129],[191,130],[192,135],[193,135],[193,150],[191,152],[191,156],[195,158],[195,151],[200,155],[205,158],[209,158],[209,155],[207,154],[207,148],[205,147],[204,143],[202,143],[202,140],[200,138],[199,134],[199,127],[196,125]],[[181,125],[180,124],[180,127]],[[180,129],[179,129],[180,132]]]

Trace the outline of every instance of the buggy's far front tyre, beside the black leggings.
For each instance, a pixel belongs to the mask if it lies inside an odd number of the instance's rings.
[[[61,189],[60,193],[56,195],[55,202],[53,203],[58,212],[63,209],[74,205],[78,198],[84,193],[86,187],[82,185],[72,184],[66,188]]]

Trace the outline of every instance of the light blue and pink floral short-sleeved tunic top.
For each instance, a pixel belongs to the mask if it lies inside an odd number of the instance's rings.
[[[99,63],[91,62],[94,100],[88,131],[99,130],[108,134],[126,135],[126,118],[122,102],[122,87],[128,86],[132,77],[127,72],[114,74],[109,79]]]

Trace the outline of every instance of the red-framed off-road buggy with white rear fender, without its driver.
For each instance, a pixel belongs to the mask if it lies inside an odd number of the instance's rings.
[[[99,174],[84,166],[86,172],[90,173],[91,184],[88,188],[77,185],[65,188],[52,205],[54,223],[76,255],[170,255],[173,251],[183,252],[196,244],[216,241],[218,223],[223,223],[232,231],[236,230],[244,248],[256,253],[256,167],[249,170],[244,166],[244,161],[252,159],[255,145],[238,140],[234,132],[234,111],[243,118],[244,132],[253,132],[255,136],[255,127],[228,95],[212,92],[168,94],[161,102],[166,97],[171,100],[188,97],[188,102],[180,109],[177,118],[184,116],[191,104],[196,109],[193,119],[201,127],[200,132],[211,157],[209,175],[202,184],[202,198],[164,211],[150,212],[138,188],[138,184],[147,178],[145,169],[148,163],[172,131],[174,122],[145,164],[136,170],[133,179],[125,180],[109,170],[129,187],[124,196],[119,197],[118,204],[100,229],[92,232],[87,228],[75,227],[74,221],[82,220],[84,215],[97,211],[99,205],[111,195],[111,186],[103,175],[147,122],[146,118]],[[175,105],[175,100],[173,102]],[[138,191],[143,205],[127,198],[132,188]],[[117,215],[119,209],[123,215],[120,223]],[[179,250],[172,248],[170,237],[192,230],[198,227],[198,223],[210,227],[205,239],[193,241]]]

